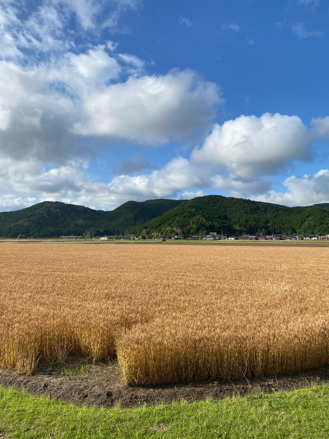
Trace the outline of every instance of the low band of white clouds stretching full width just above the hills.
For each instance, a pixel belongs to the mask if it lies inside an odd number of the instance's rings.
[[[104,183],[89,175],[86,161],[68,161],[46,170],[41,161],[7,158],[0,160],[0,210],[19,209],[43,200],[108,210],[128,200],[191,199],[203,196],[203,189],[289,206],[329,202],[328,169],[314,176],[289,177],[283,183],[285,193],[271,190],[268,179],[225,177],[212,171],[208,166],[178,157],[149,174],[118,175]]]

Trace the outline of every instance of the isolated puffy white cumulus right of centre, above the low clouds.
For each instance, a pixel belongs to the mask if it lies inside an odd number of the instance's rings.
[[[310,160],[312,136],[297,116],[265,113],[216,124],[191,160],[239,178],[278,172],[292,160]]]

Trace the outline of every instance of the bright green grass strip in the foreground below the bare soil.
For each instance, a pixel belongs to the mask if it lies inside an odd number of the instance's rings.
[[[78,408],[0,387],[0,415],[8,439],[320,439],[329,437],[329,386],[136,409]]]

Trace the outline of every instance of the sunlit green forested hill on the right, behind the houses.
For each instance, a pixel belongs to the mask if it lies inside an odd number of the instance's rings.
[[[135,231],[165,236],[176,231],[183,237],[203,235],[210,231],[223,231],[224,234],[328,234],[329,211],[314,206],[286,207],[208,195],[185,201],[162,216],[136,227]]]

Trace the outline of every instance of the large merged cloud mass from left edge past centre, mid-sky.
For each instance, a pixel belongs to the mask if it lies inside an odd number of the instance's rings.
[[[188,137],[214,117],[220,100],[214,83],[192,71],[113,83],[125,60],[132,68],[127,54],[109,56],[96,46],[68,52],[56,65],[0,61],[2,152],[53,163],[90,159],[100,143],[84,136],[106,135],[112,139],[107,146],[116,140],[164,144]]]

